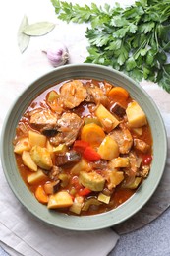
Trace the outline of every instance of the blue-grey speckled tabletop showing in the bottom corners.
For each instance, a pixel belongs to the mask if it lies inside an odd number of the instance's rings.
[[[0,248],[0,256],[7,255]],[[108,256],[148,255],[170,256],[170,208],[141,229],[121,235],[116,247]]]

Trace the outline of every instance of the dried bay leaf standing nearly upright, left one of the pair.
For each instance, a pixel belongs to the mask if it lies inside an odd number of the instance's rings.
[[[19,30],[18,30],[18,46],[19,46],[19,49],[21,51],[21,53],[23,53],[27,48],[28,48],[28,44],[29,44],[29,40],[30,40],[30,36],[23,33],[23,30],[28,26],[28,17],[25,15],[21,24],[20,24],[20,27],[19,27]]]

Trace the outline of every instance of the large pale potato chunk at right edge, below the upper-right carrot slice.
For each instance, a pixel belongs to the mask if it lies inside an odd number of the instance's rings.
[[[141,106],[133,101],[128,104],[126,109],[128,123],[133,128],[139,128],[147,124],[146,116],[142,111]]]

